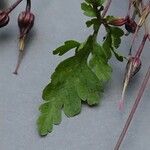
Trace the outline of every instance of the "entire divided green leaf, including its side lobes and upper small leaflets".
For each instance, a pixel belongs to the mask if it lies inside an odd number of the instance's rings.
[[[75,54],[56,67],[50,83],[43,90],[45,103],[39,108],[41,114],[37,121],[42,136],[51,132],[53,125],[60,124],[62,111],[66,116],[73,117],[81,112],[83,101],[90,106],[99,104],[105,84],[111,78],[109,59],[114,54],[118,60],[123,60],[116,52],[124,35],[123,30],[110,26],[109,30],[106,29],[103,43],[97,41],[103,2],[86,0],[81,4],[84,13],[94,17],[87,21],[87,26],[93,25],[94,30],[87,40],[81,43],[69,40],[53,51],[63,55],[73,49]]]

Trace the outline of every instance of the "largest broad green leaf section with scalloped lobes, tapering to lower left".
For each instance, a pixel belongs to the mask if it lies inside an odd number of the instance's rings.
[[[51,82],[43,91],[46,103],[40,107],[37,124],[40,135],[51,132],[54,124],[61,122],[61,111],[73,117],[81,111],[81,101],[89,105],[99,103],[103,83],[89,68],[87,59],[92,49],[90,37],[75,56],[61,62],[51,76]]]

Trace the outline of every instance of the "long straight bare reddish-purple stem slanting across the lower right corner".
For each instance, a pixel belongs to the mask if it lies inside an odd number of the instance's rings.
[[[148,68],[148,71],[147,71],[147,73],[146,73],[146,76],[145,76],[145,78],[144,78],[144,81],[143,81],[143,83],[142,83],[142,85],[141,85],[141,87],[140,87],[140,89],[139,89],[137,98],[136,98],[136,100],[135,100],[135,102],[134,102],[134,104],[133,104],[132,110],[131,110],[131,112],[130,112],[130,114],[129,114],[129,117],[128,117],[126,123],[125,123],[125,126],[124,126],[124,128],[123,128],[121,134],[120,134],[120,137],[119,137],[119,139],[118,139],[118,141],[117,141],[117,144],[116,144],[114,150],[119,150],[119,148],[120,148],[120,145],[121,145],[121,143],[122,143],[122,141],[123,141],[123,139],[124,139],[124,137],[125,137],[125,135],[126,135],[126,132],[127,132],[128,128],[129,128],[129,125],[130,125],[130,123],[131,123],[131,121],[132,121],[132,118],[133,118],[133,116],[134,116],[134,114],[135,114],[135,111],[136,111],[136,109],[137,109],[137,107],[138,107],[138,104],[139,104],[139,102],[140,102],[140,100],[141,100],[141,97],[142,97],[142,95],[143,95],[143,93],[144,93],[144,90],[145,90],[145,88],[146,88],[146,85],[147,85],[147,83],[148,83],[148,81],[149,81],[149,78],[150,78],[150,66],[149,66],[149,68]]]

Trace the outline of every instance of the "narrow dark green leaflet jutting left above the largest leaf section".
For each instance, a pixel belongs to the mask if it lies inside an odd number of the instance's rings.
[[[64,43],[63,46],[58,47],[53,51],[53,54],[59,54],[60,56],[63,55],[64,53],[68,52],[69,50],[73,48],[77,48],[80,46],[80,43],[74,40],[69,40]]]

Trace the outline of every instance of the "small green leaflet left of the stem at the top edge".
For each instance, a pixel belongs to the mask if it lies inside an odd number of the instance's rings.
[[[84,11],[84,15],[88,17],[96,17],[96,13],[90,4],[81,3],[81,9]]]

